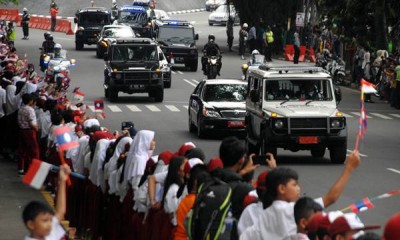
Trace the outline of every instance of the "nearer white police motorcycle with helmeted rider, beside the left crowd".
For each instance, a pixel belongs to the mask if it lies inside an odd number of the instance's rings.
[[[75,66],[75,59],[67,59],[67,51],[57,43],[54,46],[54,54],[46,56],[44,64],[47,66],[46,81],[56,84],[56,88],[59,90],[67,90],[70,85],[70,68]]]

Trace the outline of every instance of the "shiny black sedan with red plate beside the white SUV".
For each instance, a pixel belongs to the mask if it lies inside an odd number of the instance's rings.
[[[247,83],[234,79],[201,81],[189,99],[189,131],[245,134]]]

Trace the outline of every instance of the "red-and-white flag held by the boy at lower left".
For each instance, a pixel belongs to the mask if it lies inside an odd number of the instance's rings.
[[[22,182],[39,190],[42,187],[44,180],[46,180],[50,168],[51,164],[42,162],[38,159],[33,159],[28,172],[22,178]]]

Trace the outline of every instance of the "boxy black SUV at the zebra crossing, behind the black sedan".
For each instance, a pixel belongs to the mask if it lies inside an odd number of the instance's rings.
[[[118,92],[149,93],[156,102],[164,99],[163,74],[157,44],[149,38],[120,38],[108,43],[104,55],[104,89],[110,101]]]

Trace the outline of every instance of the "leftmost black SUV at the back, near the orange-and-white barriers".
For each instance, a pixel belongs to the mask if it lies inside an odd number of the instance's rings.
[[[103,26],[111,24],[111,14],[103,7],[81,8],[76,12],[74,22],[78,25],[75,49],[82,50],[84,44],[97,44]]]

